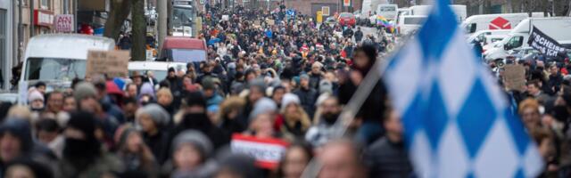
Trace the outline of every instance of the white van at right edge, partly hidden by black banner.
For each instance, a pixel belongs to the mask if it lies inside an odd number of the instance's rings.
[[[529,18],[522,20],[516,28],[509,32],[499,44],[495,44],[492,49],[484,53],[485,60],[504,59],[509,50],[517,50],[529,46],[527,40],[532,27],[539,28],[547,36],[550,36],[559,44],[570,44],[571,33],[571,17],[552,17],[552,18]]]

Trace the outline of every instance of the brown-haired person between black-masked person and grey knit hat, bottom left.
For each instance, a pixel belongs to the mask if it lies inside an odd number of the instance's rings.
[[[125,166],[126,172],[140,172],[148,177],[159,175],[153,153],[133,126],[121,125],[115,132],[114,140],[118,145],[117,156]]]

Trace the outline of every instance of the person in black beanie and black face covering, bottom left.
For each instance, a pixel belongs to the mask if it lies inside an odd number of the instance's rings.
[[[64,130],[65,147],[55,177],[101,177],[120,173],[124,167],[119,158],[108,154],[95,136],[96,120],[88,112],[74,112]]]

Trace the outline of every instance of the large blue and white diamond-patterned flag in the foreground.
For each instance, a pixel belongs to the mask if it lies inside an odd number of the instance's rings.
[[[542,157],[470,49],[448,0],[435,1],[384,81],[419,177],[534,177]]]

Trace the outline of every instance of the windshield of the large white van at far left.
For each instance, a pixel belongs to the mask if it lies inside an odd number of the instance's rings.
[[[26,64],[26,80],[71,81],[86,77],[87,62],[58,58],[29,58]]]

